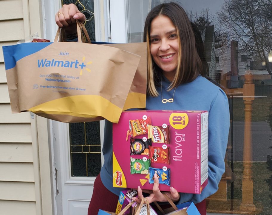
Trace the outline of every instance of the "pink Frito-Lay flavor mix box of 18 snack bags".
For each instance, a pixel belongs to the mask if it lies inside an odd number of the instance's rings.
[[[113,186],[200,194],[208,183],[208,112],[124,111],[113,124]]]

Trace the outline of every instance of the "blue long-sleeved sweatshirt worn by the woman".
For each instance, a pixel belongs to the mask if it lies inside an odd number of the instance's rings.
[[[169,80],[163,77],[163,98],[173,97],[174,89],[167,92]],[[162,103],[161,87],[157,88],[158,97],[147,96],[146,110],[208,110],[208,185],[201,194],[180,193],[179,203],[201,202],[218,190],[218,183],[225,172],[225,153],[230,126],[228,99],[221,88],[202,76],[194,81],[179,85],[174,93],[173,103]],[[112,124],[105,123],[103,145],[104,165],[101,180],[104,186],[116,195],[123,188],[112,185]]]

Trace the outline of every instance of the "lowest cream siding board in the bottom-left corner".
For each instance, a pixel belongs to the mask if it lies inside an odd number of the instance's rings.
[[[35,202],[0,200],[0,214],[3,215],[34,215],[36,214]]]

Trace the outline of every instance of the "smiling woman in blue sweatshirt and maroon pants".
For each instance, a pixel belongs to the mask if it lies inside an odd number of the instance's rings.
[[[76,34],[75,19],[83,22],[84,14],[70,4],[56,14],[56,23],[64,27],[67,38]],[[176,3],[160,4],[147,15],[144,27],[147,42],[148,110],[208,110],[208,185],[201,194],[178,193],[171,187],[167,192],[177,204],[193,201],[202,215],[205,198],[214,194],[225,172],[225,152],[229,130],[229,108],[225,93],[201,76],[203,67],[195,47],[194,32],[185,11]],[[112,124],[106,121],[103,155],[105,163],[98,175],[88,215],[98,209],[115,211],[120,188],[112,187]],[[145,191],[149,202],[166,202],[158,180],[152,191]],[[138,188],[138,199],[143,198]]]

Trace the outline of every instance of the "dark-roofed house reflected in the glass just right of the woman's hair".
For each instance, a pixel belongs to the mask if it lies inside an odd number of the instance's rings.
[[[204,43],[206,61],[209,66],[209,77],[216,80],[214,26],[198,27],[198,29]]]

